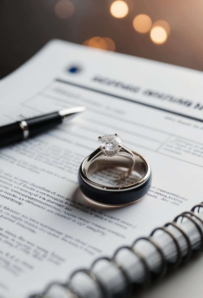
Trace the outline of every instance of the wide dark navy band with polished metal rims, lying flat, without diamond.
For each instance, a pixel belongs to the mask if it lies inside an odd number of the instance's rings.
[[[133,151],[132,151],[133,152]],[[135,172],[140,176],[140,179],[133,181],[132,184],[121,187],[109,187],[90,180],[88,176],[98,172],[101,169],[107,167],[128,167],[129,160],[124,156],[102,157],[99,160],[93,162],[88,168],[88,159],[86,157],[80,165],[78,172],[78,184],[82,193],[90,200],[104,205],[110,206],[123,206],[132,204],[141,198],[143,198],[151,187],[152,173],[149,163],[140,156],[138,153],[133,152],[135,155]]]

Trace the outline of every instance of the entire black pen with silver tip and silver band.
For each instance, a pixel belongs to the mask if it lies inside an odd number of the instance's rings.
[[[34,118],[24,119],[0,127],[0,147],[19,142],[29,137],[40,134],[71,119],[76,114],[85,111],[85,107],[74,107]]]

